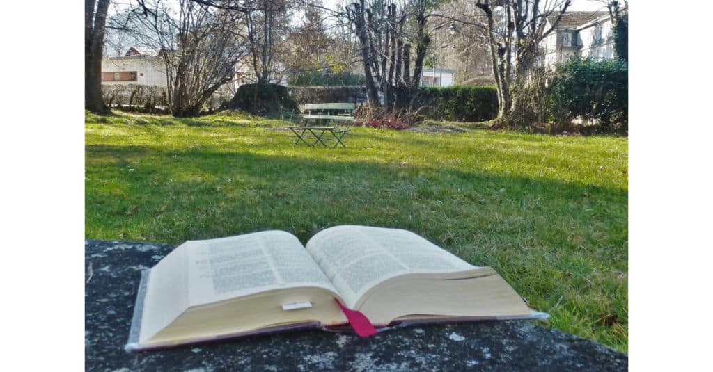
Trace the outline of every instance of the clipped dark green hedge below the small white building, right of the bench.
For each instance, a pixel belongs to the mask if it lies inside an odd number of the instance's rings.
[[[434,120],[491,120],[498,115],[498,91],[493,86],[421,87],[410,108]]]

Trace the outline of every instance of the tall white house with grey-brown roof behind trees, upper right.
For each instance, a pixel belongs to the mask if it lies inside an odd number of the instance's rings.
[[[548,28],[557,16],[549,16]],[[544,64],[554,68],[573,56],[607,61],[614,55],[614,28],[607,11],[568,11],[541,44]]]

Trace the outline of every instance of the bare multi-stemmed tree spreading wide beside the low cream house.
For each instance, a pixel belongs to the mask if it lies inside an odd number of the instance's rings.
[[[116,29],[158,51],[165,64],[171,113],[195,116],[212,93],[235,78],[236,63],[246,52],[237,32],[245,22],[245,9],[220,6],[227,2],[173,4],[140,1],[126,19],[116,21]]]

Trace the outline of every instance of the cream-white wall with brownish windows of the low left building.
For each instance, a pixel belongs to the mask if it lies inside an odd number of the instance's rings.
[[[136,81],[102,81],[102,84],[141,84],[145,86],[166,86],[166,71],[163,63],[155,56],[131,56],[104,58],[101,72],[136,71]]]

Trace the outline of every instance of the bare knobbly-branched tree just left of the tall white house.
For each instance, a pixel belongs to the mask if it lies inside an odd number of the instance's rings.
[[[528,74],[538,58],[540,42],[555,29],[570,4],[570,0],[476,0],[486,16],[499,123],[530,124],[533,116],[525,94]]]

